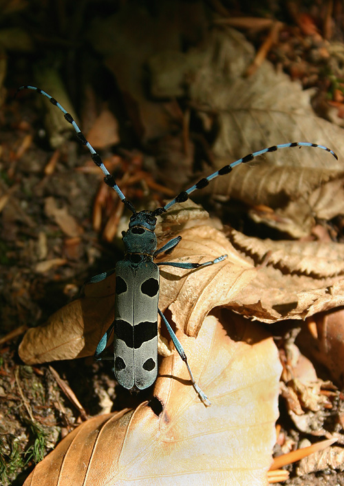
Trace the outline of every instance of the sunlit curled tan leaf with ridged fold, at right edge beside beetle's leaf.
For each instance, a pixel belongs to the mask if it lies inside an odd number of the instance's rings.
[[[231,306],[237,312],[272,323],[286,318],[305,319],[344,304],[343,275],[329,275],[336,265],[341,272],[342,245],[338,245],[337,252],[333,243],[308,246],[295,241],[285,245],[250,238],[235,230],[230,230],[228,236],[248,261],[265,263],[256,278],[237,294]]]

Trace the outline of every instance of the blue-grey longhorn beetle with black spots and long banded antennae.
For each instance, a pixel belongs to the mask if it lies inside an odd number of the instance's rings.
[[[56,101],[50,94],[36,88],[35,86],[21,86],[19,90],[34,90],[43,94],[44,97],[57,106],[63,112],[65,119],[73,125],[76,135],[83,145],[86,145],[91,152],[92,160],[103,171],[104,181],[110,188],[118,194],[122,203],[133,214],[129,221],[129,229],[123,232],[122,238],[125,245],[125,259],[116,263],[114,270],[103,272],[94,276],[88,283],[103,281],[114,271],[116,272],[116,296],[115,296],[115,318],[107,332],[100,339],[96,348],[95,358],[100,360],[101,354],[107,347],[112,331],[114,331],[114,374],[120,385],[127,389],[145,389],[152,385],[158,375],[158,314],[164,321],[167,330],[172,338],[175,349],[178,351],[180,358],[184,361],[191,383],[200,396],[204,405],[211,405],[207,396],[202,389],[195,383],[193,374],[189,367],[186,354],[182,345],[166,317],[158,307],[159,301],[159,268],[158,265],[169,265],[171,267],[184,268],[193,270],[195,268],[214,265],[226,259],[227,255],[219,256],[213,261],[205,263],[154,263],[153,259],[160,253],[173,250],[178,245],[181,236],[171,239],[161,248],[157,249],[157,239],[155,236],[156,216],[166,212],[175,203],[183,203],[189,199],[189,194],[197,189],[203,189],[210,181],[217,176],[229,174],[236,165],[252,161],[256,156],[266,154],[266,152],[275,152],[281,148],[292,147],[315,147],[330,152],[337,160],[336,154],[323,145],[308,142],[283,143],[264,148],[258,152],[253,152],[244,156],[242,159],[225,165],[222,169],[213,172],[210,176],[201,179],[195,185],[186,191],[180,192],[178,196],[163,207],[158,207],[154,211],[136,212],[133,204],[128,201],[122,193],[113,176],[109,173],[100,155],[94,150],[92,145],[85,139],[85,136],[76,125],[71,114]],[[18,90],[18,91],[19,91]]]

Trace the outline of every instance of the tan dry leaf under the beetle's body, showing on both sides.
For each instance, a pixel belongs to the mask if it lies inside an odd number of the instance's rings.
[[[160,309],[170,307],[177,327],[196,336],[206,314],[224,305],[255,278],[256,270],[237,254],[226,237],[212,227],[179,232],[182,241],[171,255],[157,261],[210,261],[228,258],[200,270],[160,267]],[[202,272],[202,275],[198,274]],[[115,276],[85,286],[85,297],[55,312],[47,323],[30,329],[19,347],[25,363],[44,363],[94,354],[101,336],[114,320]],[[160,353],[169,354],[166,343]]]

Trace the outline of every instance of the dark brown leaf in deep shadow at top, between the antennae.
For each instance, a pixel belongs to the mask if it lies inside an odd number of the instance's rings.
[[[94,19],[89,26],[89,41],[116,77],[133,130],[142,141],[169,134],[170,115],[179,114],[173,102],[148,99],[144,81],[151,54],[178,50],[178,20],[173,3],[159,5],[154,16],[143,4],[135,9],[124,4],[116,14]]]

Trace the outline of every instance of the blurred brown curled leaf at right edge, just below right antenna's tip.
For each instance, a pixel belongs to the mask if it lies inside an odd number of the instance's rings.
[[[330,165],[329,161],[324,160],[325,163]],[[275,168],[262,163],[241,171],[226,187],[235,199],[272,208],[271,216],[253,207],[249,214],[256,223],[267,223],[294,238],[301,238],[310,234],[316,219],[327,220],[343,214],[343,176],[343,170],[326,166],[297,168],[287,162],[283,168]],[[252,191],[252,187],[255,190]]]

